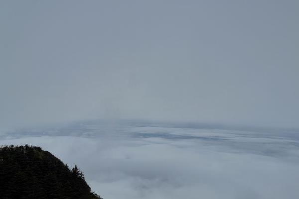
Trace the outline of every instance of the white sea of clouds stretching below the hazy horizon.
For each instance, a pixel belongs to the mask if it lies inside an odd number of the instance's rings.
[[[78,122],[2,133],[83,171],[104,199],[295,199],[299,132]]]

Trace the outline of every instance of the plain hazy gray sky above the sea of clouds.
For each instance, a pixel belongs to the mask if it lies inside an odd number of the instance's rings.
[[[1,128],[299,127],[298,0],[2,0]]]

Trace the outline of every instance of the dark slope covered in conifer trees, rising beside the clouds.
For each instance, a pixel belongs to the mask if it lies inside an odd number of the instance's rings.
[[[101,199],[84,175],[37,146],[0,147],[0,199]]]

